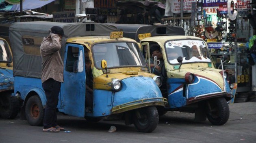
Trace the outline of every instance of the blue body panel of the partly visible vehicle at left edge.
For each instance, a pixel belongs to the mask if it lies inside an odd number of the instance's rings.
[[[13,71],[0,68],[0,91],[13,90]]]

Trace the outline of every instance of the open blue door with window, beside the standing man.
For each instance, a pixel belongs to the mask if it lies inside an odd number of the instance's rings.
[[[64,58],[64,83],[61,85],[61,108],[65,114],[85,116],[84,47],[67,44]]]

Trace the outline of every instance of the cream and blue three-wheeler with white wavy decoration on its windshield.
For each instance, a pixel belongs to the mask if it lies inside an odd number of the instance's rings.
[[[204,121],[206,117],[215,125],[228,121],[227,101],[232,98],[226,80],[228,73],[216,69],[204,40],[185,36],[184,29],[177,26],[111,25],[123,30],[124,37],[141,43],[148,65],[151,47],[160,47],[164,62],[161,75],[165,83],[160,88],[169,104],[158,109],[159,115],[181,111],[195,113],[195,121]]]

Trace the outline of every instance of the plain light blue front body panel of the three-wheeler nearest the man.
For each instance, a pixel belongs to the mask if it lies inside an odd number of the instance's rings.
[[[149,77],[130,77],[121,80],[122,88],[117,92],[106,90],[94,90],[93,95],[93,116],[111,115],[112,108],[124,103],[137,101],[141,99],[150,99],[162,97],[161,90],[156,83]],[[151,101],[160,101],[161,99],[150,99]],[[134,102],[131,104],[139,103]]]

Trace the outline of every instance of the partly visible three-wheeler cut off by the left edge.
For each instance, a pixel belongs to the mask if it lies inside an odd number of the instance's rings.
[[[13,94],[13,63],[8,42],[0,38],[0,117],[13,119],[19,112],[19,100]]]

